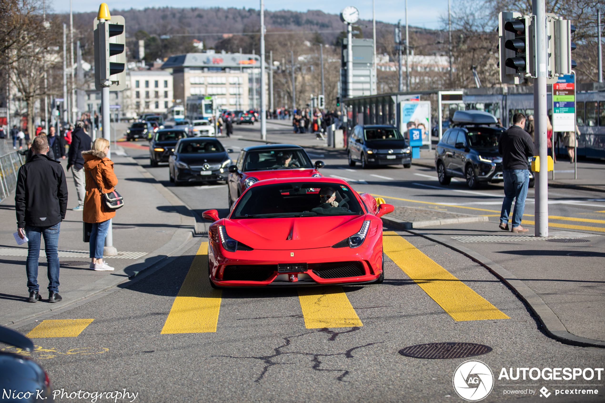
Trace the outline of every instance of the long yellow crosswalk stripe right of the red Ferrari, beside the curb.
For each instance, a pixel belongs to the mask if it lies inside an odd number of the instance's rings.
[[[387,256],[454,320],[509,319],[396,232],[385,231],[383,244]]]

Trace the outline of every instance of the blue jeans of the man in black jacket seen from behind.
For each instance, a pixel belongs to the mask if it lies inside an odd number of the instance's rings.
[[[27,260],[25,270],[27,271],[27,288],[29,291],[39,291],[38,285],[38,258],[40,257],[40,238],[44,237],[44,250],[48,264],[48,291],[59,291],[59,256],[57,247],[59,245],[59,227],[61,223],[52,227],[33,227],[25,225],[25,236],[29,239],[27,243]]]

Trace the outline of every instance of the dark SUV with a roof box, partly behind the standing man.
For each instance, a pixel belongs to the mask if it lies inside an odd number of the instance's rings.
[[[456,111],[452,120],[454,127],[443,134],[435,149],[439,183],[449,185],[452,176],[465,178],[471,189],[479,189],[485,182],[502,182],[498,141],[504,128],[495,116],[483,111]],[[529,187],[534,187],[531,170]]]

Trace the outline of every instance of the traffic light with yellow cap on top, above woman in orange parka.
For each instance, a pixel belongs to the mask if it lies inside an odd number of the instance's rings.
[[[105,21],[100,22],[100,19]],[[110,22],[111,21],[111,22]],[[94,19],[94,86],[103,88],[111,81],[110,91],[126,88],[126,31],[122,16],[111,16],[109,7],[103,3],[99,15]]]

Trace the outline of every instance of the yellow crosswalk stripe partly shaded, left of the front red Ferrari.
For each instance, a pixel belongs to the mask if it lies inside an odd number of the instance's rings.
[[[221,290],[209,284],[208,242],[202,242],[172,303],[162,334],[216,332],[221,296]]]

